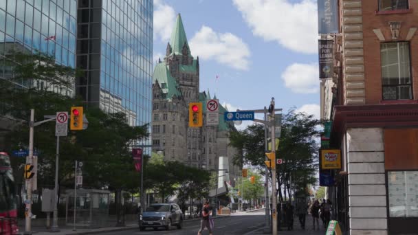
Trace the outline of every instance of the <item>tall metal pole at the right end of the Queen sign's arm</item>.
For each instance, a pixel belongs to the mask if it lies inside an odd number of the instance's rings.
[[[274,161],[276,161],[276,133],[274,130],[274,98],[272,98],[272,101],[270,102],[270,105],[272,105],[272,113],[270,113],[271,122],[272,122],[272,153],[274,153]],[[272,231],[273,235],[277,235],[277,197],[276,197],[276,164],[273,164],[274,167],[272,167],[272,204],[273,204],[273,223],[272,223]]]

